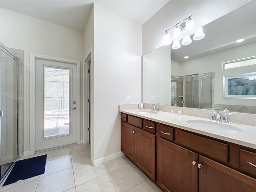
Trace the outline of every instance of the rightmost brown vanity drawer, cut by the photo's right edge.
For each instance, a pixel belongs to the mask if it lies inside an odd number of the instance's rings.
[[[256,153],[239,149],[239,168],[256,175],[256,167],[254,165],[256,166]]]

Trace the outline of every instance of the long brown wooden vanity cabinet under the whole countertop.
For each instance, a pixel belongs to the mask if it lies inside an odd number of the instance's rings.
[[[255,149],[130,115],[126,119],[122,152],[164,192],[256,192]]]

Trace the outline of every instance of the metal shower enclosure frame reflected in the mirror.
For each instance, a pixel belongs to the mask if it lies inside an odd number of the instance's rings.
[[[209,77],[209,78],[212,78],[211,76],[208,76],[206,74],[201,74],[201,73],[196,73],[196,74],[190,74],[190,75],[184,75],[184,76],[177,76],[177,77],[172,77],[171,78],[171,82],[172,80],[176,80],[178,78],[182,78],[182,83],[183,83],[183,86],[182,86],[182,92],[183,92],[183,101],[182,101],[182,107],[186,107],[186,97],[184,97],[186,95],[186,77],[190,77],[191,76],[191,99],[192,99],[192,108],[194,108],[194,76],[197,76],[198,77],[198,81],[197,81],[197,86],[198,86],[198,98],[200,96],[200,81],[199,81],[199,77],[200,76],[206,76],[206,77]],[[177,81],[178,82],[178,81]],[[185,85],[185,86],[184,86]],[[210,81],[210,86],[212,87],[212,81]],[[175,91],[176,92],[176,91]],[[210,96],[212,96],[212,88],[210,89]],[[176,95],[177,97],[177,95]],[[212,99],[211,99],[212,100]],[[200,103],[199,103],[199,99],[198,99],[198,107],[200,108]],[[212,105],[212,104],[211,104]]]

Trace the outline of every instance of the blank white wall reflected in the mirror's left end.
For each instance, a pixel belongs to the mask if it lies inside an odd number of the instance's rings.
[[[162,46],[143,56],[143,103],[171,105],[170,59],[170,46]]]

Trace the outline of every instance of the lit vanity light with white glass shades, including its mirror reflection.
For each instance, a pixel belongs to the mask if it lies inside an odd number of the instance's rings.
[[[194,21],[192,20],[191,16],[192,15],[188,16],[186,19],[182,20],[181,22],[177,23],[176,25],[172,26],[171,28],[165,31],[163,45],[170,45],[172,44],[172,41],[173,41],[172,48],[178,49],[181,47],[180,45],[181,39],[182,39],[182,42],[181,42],[182,45],[189,45],[192,42],[192,39],[190,36],[192,36],[193,34],[194,34],[193,40],[195,41],[201,40],[202,38],[204,38],[205,35],[203,32],[203,28],[200,27],[196,29],[196,27],[194,26]],[[184,22],[187,19],[188,21]],[[171,38],[168,31],[174,27],[175,29],[173,32],[173,36]]]

